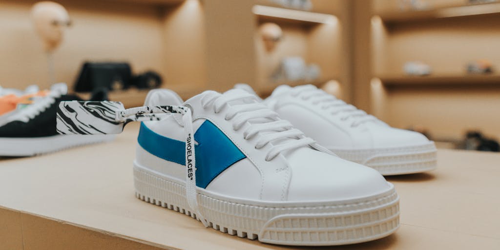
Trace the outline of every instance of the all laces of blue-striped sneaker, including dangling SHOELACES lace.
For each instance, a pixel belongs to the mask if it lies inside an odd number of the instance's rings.
[[[257,134],[262,134],[256,142],[255,148],[260,149],[271,141],[276,142],[267,151],[265,160],[270,161],[280,152],[315,144],[316,142],[306,137],[300,130],[293,128],[290,122],[278,118],[276,112],[270,110],[265,105],[256,101],[256,96],[245,92],[234,92],[231,94],[220,94],[217,92],[207,92],[202,98],[203,108],[212,104],[215,113],[223,108],[228,108],[227,121],[232,120],[234,130],[239,130],[244,124],[249,126],[243,131],[245,139],[250,139]],[[186,178],[186,199],[192,212],[207,227],[208,221],[201,214],[197,202],[196,190],[196,163],[194,150],[194,133],[192,128],[191,109],[186,106],[144,106],[121,110],[116,114],[116,121],[147,121],[159,120],[168,113],[182,114],[182,123],[185,132],[185,178]],[[158,115],[160,114],[160,115]],[[318,145],[314,145],[319,147]],[[327,151],[326,149],[323,149]],[[329,152],[329,151],[328,151]]]

